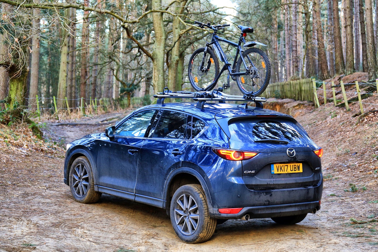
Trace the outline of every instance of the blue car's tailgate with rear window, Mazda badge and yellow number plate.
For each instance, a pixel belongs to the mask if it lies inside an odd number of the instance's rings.
[[[228,121],[229,147],[259,153],[242,161],[243,181],[251,190],[317,186],[319,149],[292,117],[236,117]]]

